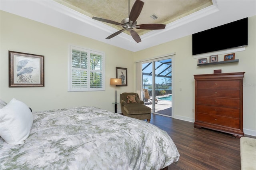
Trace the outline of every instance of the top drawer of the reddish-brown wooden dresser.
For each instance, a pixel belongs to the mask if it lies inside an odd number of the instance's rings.
[[[197,81],[197,88],[214,88],[214,89],[240,89],[239,80],[207,80]]]

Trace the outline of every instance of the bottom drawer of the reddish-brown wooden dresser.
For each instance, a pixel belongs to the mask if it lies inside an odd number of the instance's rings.
[[[231,127],[231,128],[240,128],[239,119],[234,119],[230,117],[222,117],[217,115],[197,113],[196,121],[211,123],[214,125],[222,125],[222,126]]]

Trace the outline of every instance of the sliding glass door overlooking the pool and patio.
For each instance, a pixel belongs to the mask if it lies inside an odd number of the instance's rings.
[[[142,63],[142,95],[152,113],[172,117],[172,58]]]

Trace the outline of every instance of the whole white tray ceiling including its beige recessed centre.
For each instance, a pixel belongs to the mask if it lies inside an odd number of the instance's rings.
[[[140,51],[203,30],[256,15],[255,0],[143,0],[138,24],[166,24],[164,30],[140,32],[136,43],[126,33],[92,16],[120,22],[128,17],[127,0],[0,0],[0,9],[129,51]],[[130,10],[134,0],[130,0]],[[153,20],[154,14],[158,19]],[[170,51],[173,53],[175,51]]]

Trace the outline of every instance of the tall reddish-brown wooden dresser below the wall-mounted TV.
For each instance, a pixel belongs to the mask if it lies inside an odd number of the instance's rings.
[[[194,75],[196,128],[244,136],[243,78],[245,72]]]

